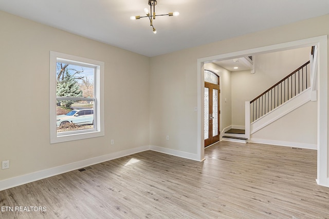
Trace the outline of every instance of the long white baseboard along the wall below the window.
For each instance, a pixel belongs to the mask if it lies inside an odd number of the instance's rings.
[[[111,154],[105,154],[105,155],[98,156],[98,157],[93,157],[93,158],[89,158],[87,160],[78,161],[75,163],[66,164],[66,165],[59,166],[59,167],[53,167],[53,168],[41,170],[38,172],[28,173],[28,174],[16,176],[13,178],[8,178],[7,180],[0,181],[0,191],[9,189],[12,187],[20,186],[23,184],[31,183],[34,181],[42,180],[43,178],[48,178],[50,176],[62,174],[62,173],[69,172],[72,170],[77,170],[77,169],[80,169],[80,168],[83,168],[86,166],[91,166],[91,165],[99,164],[102,162],[111,161],[111,160],[114,160],[119,157],[128,156],[128,155],[139,153],[142,151],[147,151],[149,149],[150,149],[150,146],[142,146],[142,147],[133,148],[133,149],[129,149],[129,150],[118,151],[118,152],[111,153]]]

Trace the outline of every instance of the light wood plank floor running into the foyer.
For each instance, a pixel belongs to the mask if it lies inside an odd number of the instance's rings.
[[[329,218],[315,150],[221,142],[204,163],[146,151],[0,192],[0,218]]]

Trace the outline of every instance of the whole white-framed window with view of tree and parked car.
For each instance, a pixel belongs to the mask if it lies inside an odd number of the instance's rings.
[[[50,143],[104,135],[104,63],[50,52]]]

